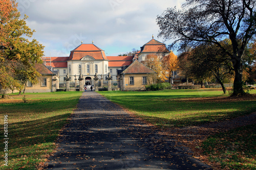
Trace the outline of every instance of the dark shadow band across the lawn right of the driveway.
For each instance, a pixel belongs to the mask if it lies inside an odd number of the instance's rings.
[[[255,100],[252,101],[209,101],[200,102],[195,100],[175,100],[167,96],[155,95],[125,95],[125,96],[106,96],[112,102],[120,104],[126,108],[137,112],[167,113],[167,112],[197,112],[205,111],[218,112],[218,110],[236,109],[237,111],[256,110]],[[178,99],[179,96],[174,96]],[[189,96],[186,96],[189,98]],[[196,96],[195,97],[199,97]],[[181,96],[180,96],[181,98]]]

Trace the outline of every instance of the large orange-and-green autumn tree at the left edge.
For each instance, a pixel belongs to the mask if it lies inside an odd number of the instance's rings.
[[[27,79],[35,80],[38,72],[35,63],[42,63],[43,48],[35,39],[29,41],[34,30],[26,26],[27,16],[20,19],[15,0],[0,1],[0,84],[7,88],[10,82],[22,82],[17,75],[23,74]],[[19,65],[23,65],[20,69]],[[31,71],[33,73],[31,73]],[[6,81],[8,80],[8,81]],[[25,85],[25,84],[22,84]]]

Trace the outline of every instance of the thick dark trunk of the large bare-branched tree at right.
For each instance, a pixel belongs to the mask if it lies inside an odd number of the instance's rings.
[[[233,84],[233,96],[244,95],[245,91],[243,89],[243,66],[241,62],[241,58],[236,60],[232,60],[234,67],[234,84]]]

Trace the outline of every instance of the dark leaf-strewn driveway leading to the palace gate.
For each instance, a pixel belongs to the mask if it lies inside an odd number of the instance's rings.
[[[175,142],[87,91],[45,169],[210,169]]]

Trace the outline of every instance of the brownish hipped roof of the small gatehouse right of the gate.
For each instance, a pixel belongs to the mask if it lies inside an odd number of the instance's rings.
[[[148,68],[138,60],[135,60],[129,67],[123,70],[122,74],[150,74],[155,73],[152,69]]]

